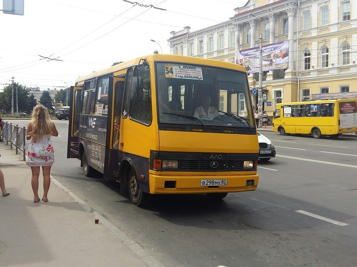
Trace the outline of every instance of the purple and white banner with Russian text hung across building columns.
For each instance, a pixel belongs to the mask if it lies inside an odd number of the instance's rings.
[[[289,41],[262,46],[263,72],[286,69],[289,66]],[[259,72],[259,47],[236,52],[236,63],[244,66],[247,73]]]

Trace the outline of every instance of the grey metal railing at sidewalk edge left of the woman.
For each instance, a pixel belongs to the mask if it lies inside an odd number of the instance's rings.
[[[10,143],[10,149],[12,146],[16,148],[16,154],[19,150],[22,151],[25,161],[25,141],[26,141],[26,128],[12,125],[12,123],[2,122],[1,138],[2,141],[6,140],[6,145]]]

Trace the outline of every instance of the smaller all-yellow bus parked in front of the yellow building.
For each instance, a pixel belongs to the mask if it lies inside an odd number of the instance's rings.
[[[357,99],[280,103],[273,117],[273,131],[312,134],[315,138],[357,131]]]

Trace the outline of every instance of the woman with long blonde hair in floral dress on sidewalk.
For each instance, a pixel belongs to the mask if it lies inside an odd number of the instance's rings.
[[[26,164],[31,167],[31,187],[34,192],[34,203],[40,201],[38,194],[40,167],[44,177],[44,194],[42,201],[48,202],[47,193],[50,189],[50,171],[55,161],[52,136],[58,136],[56,125],[51,121],[50,114],[43,105],[37,105],[32,111],[31,121],[27,125],[26,139],[30,140]]]

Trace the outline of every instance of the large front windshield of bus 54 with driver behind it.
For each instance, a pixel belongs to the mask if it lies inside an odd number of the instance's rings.
[[[246,73],[163,62],[155,68],[159,123],[254,126]]]

